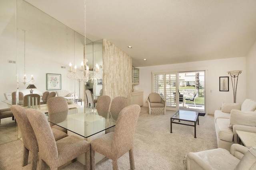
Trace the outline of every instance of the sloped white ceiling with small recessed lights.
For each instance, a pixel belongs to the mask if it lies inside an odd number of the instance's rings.
[[[83,0],[26,1],[84,35]],[[136,67],[244,57],[256,0],[87,0],[86,37],[108,39]]]

